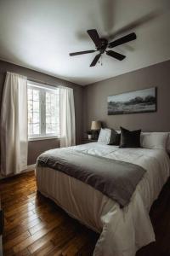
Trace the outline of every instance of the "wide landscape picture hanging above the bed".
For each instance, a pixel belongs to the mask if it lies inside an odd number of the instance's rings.
[[[156,112],[156,87],[108,96],[108,114]]]

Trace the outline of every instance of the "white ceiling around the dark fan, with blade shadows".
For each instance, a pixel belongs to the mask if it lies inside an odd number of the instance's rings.
[[[170,59],[169,0],[0,0],[0,59],[76,84],[92,84]],[[116,47],[127,58],[96,53],[88,29],[101,37],[136,32],[137,39]]]

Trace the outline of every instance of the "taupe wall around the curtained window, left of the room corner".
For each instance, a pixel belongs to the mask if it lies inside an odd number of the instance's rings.
[[[75,110],[76,110],[76,135],[77,143],[80,143],[82,137],[82,91],[83,88],[80,85],[72,84],[62,79],[58,79],[43,73],[39,73],[28,69],[26,67],[20,67],[5,61],[0,61],[0,103],[3,96],[3,84],[6,72],[20,73],[26,75],[29,79],[41,80],[49,84],[60,84],[63,86],[71,87],[74,90],[75,97]],[[29,143],[28,147],[28,165],[36,162],[38,154],[50,148],[57,148],[59,146],[59,140],[49,139],[42,141],[34,141]]]

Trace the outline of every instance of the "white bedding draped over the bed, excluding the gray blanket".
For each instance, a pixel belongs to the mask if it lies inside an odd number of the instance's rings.
[[[129,205],[120,208],[115,201],[74,177],[37,167],[37,189],[73,218],[100,233],[94,256],[134,256],[140,247],[155,241],[149,211],[169,177],[167,153],[161,149],[118,148],[99,143],[71,148],[134,163],[147,171]]]

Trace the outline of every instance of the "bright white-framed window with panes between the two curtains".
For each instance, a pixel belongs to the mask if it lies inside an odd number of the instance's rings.
[[[59,137],[59,88],[28,82],[28,137]]]

